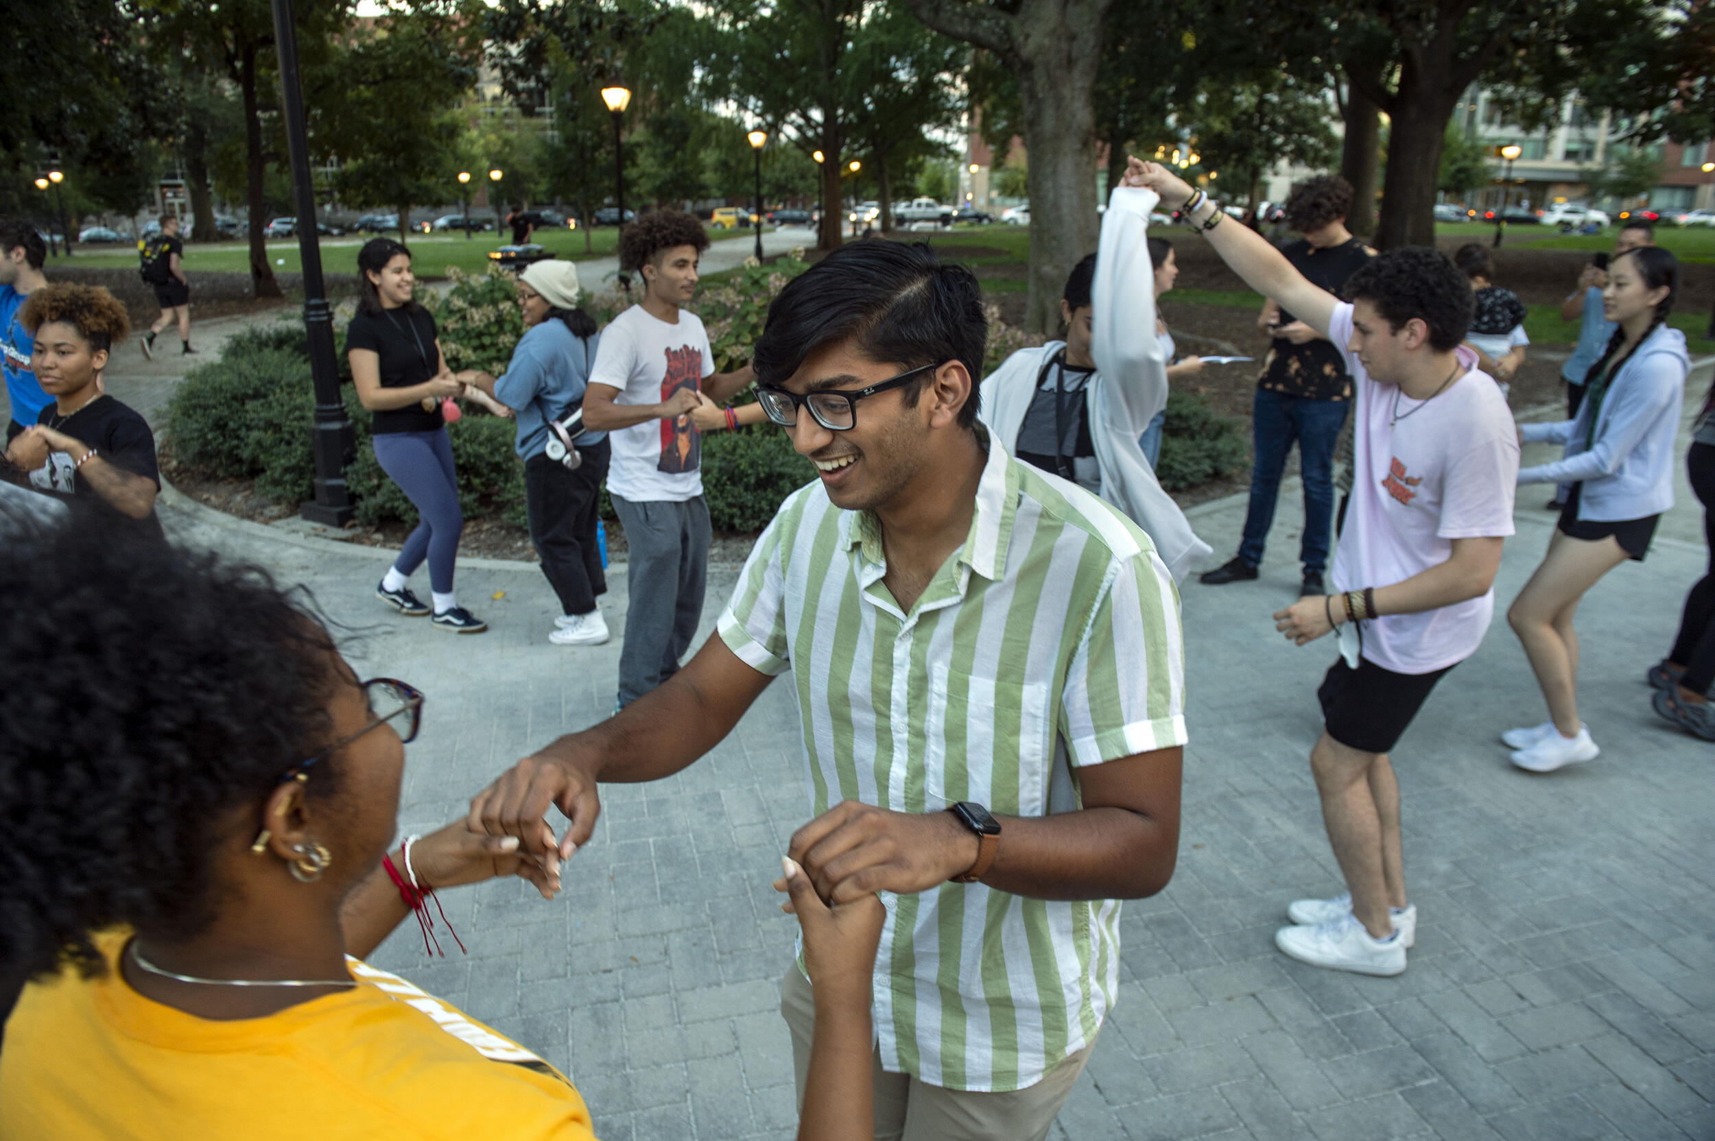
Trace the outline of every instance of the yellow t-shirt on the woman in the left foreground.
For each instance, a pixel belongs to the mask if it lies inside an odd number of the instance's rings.
[[[569,1081],[530,1050],[358,959],[358,987],[211,1021],[144,999],[98,941],[99,978],[31,983],[0,1052],[3,1141],[593,1141]]]

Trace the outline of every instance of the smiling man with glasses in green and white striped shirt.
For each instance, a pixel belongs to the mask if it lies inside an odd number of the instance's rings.
[[[1115,1001],[1118,901],[1164,887],[1178,845],[1173,581],[1118,511],[978,427],[984,338],[976,279],[928,247],[856,243],[792,281],[753,363],[821,478],[684,670],[472,803],[569,855],[599,781],[686,768],[791,670],[813,814],[791,857],[835,906],[888,910],[878,1138],[1044,1136]],[[799,1091],[811,985],[782,987]]]

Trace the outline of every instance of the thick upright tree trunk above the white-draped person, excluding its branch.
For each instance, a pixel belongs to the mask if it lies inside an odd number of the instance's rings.
[[[1017,36],[1019,94],[1024,105],[1024,146],[1029,151],[1031,293],[1024,307],[1027,332],[1060,327],[1060,295],[1067,276],[1096,248],[1096,69],[1106,3],[1070,0],[1051,5],[1027,0]],[[1032,19],[1032,15],[1036,19]]]

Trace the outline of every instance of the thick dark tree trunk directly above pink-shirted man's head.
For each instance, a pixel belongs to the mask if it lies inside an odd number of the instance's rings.
[[[1435,245],[1435,182],[1441,147],[1453,118],[1453,105],[1465,84],[1451,86],[1444,75],[1451,60],[1406,58],[1399,69],[1399,93],[1387,132],[1387,176],[1382,183],[1382,212],[1375,247]]]

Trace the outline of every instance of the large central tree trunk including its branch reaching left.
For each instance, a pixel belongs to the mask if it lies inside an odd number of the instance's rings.
[[[1096,248],[1096,72],[1113,0],[911,0],[930,27],[993,53],[1019,84],[1029,151],[1031,267],[1024,327],[1060,324],[1060,293]]]

